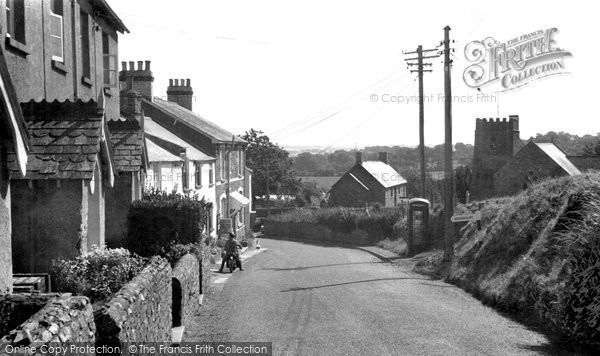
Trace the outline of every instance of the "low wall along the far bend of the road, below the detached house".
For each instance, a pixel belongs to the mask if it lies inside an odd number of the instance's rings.
[[[332,231],[325,225],[315,223],[280,222],[267,220],[264,228],[265,237],[278,239],[289,238],[293,240],[345,242],[357,245],[369,244],[369,235],[366,231],[357,229],[351,233]]]

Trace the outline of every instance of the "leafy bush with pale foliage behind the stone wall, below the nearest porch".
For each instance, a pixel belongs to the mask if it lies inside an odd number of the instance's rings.
[[[126,249],[99,249],[74,260],[52,261],[52,280],[58,291],[104,300],[135,277],[147,260]]]

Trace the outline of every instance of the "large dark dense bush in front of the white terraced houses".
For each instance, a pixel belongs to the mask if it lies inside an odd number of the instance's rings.
[[[148,257],[164,254],[174,243],[198,243],[209,206],[197,196],[146,191],[129,209],[125,247]]]

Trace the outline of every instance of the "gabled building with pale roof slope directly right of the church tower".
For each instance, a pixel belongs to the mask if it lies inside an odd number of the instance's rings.
[[[530,141],[494,174],[494,190],[496,195],[514,195],[540,179],[579,174],[554,143]]]

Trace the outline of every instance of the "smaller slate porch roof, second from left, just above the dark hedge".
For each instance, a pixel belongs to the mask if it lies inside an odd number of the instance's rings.
[[[145,169],[144,132],[138,121],[108,121],[117,172]]]

